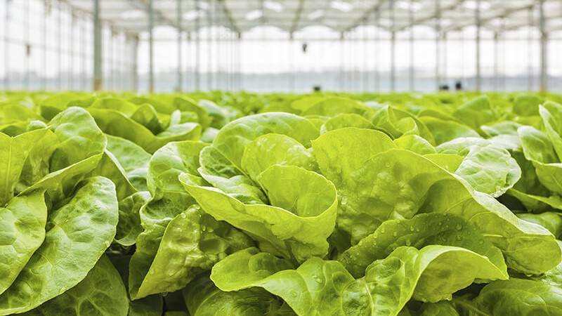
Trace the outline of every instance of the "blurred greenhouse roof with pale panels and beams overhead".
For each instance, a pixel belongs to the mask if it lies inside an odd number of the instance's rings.
[[[223,26],[244,33],[261,25],[292,34],[322,25],[347,32],[377,25],[388,32],[426,26],[452,32],[477,24],[492,32],[539,25],[540,0],[152,0],[154,25],[183,32]],[[92,0],[67,0],[73,8],[93,11]],[[145,32],[150,0],[100,0],[100,16],[115,27]],[[480,8],[480,10],[478,10]],[[562,1],[544,1],[547,32],[562,30]]]

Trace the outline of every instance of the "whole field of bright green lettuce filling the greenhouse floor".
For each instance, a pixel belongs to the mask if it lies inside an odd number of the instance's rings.
[[[560,315],[561,100],[0,92],[0,315]]]

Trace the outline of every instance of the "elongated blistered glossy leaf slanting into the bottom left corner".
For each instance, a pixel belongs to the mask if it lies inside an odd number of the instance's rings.
[[[115,237],[117,216],[115,185],[107,178],[86,180],[49,213],[44,243],[0,295],[0,315],[36,308],[81,282]]]

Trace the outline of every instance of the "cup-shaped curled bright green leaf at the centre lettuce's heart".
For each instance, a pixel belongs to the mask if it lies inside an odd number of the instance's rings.
[[[180,180],[202,209],[272,247],[285,257],[304,261],[325,256],[336,219],[336,189],[324,177],[296,166],[270,166],[259,176],[271,205],[244,204],[214,187]],[[262,245],[263,244],[263,245]]]

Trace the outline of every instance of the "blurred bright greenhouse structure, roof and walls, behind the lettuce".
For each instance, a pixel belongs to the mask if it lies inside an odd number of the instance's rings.
[[[561,0],[0,0],[0,89],[562,91]]]

